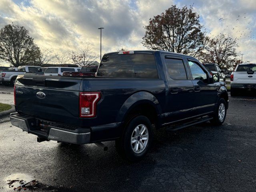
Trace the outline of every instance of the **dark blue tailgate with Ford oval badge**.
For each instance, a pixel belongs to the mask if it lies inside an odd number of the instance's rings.
[[[79,125],[80,78],[18,76],[16,110],[23,114]]]

